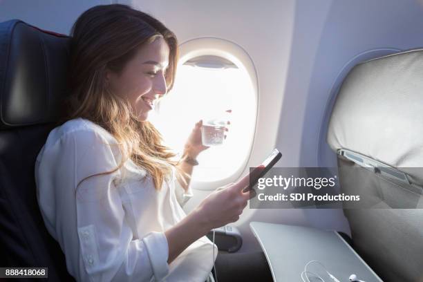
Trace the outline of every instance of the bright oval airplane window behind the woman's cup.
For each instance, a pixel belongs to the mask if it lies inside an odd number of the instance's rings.
[[[173,89],[160,100],[150,120],[166,144],[182,152],[196,122],[227,118],[227,138],[200,153],[194,172],[196,181],[222,180],[232,176],[250,156],[256,124],[255,92],[243,66],[215,55],[194,57],[178,66]],[[226,113],[228,109],[232,113]]]

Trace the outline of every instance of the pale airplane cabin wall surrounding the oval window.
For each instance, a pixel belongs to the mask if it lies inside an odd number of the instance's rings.
[[[280,167],[336,165],[326,145],[325,121],[342,77],[363,59],[423,46],[421,0],[8,0],[0,1],[0,21],[18,18],[68,34],[81,12],[111,2],[158,17],[180,44],[218,37],[250,55],[259,79],[259,112],[248,167],[273,147],[283,153]],[[195,190],[187,211],[209,192]],[[349,233],[338,209],[245,209],[236,223],[243,233],[241,252],[260,248],[248,227],[251,220]]]

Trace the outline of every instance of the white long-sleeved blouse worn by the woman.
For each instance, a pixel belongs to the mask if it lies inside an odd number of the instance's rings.
[[[109,146],[114,144],[114,146]],[[167,263],[164,231],[186,216],[192,196],[173,169],[157,191],[147,171],[120,164],[117,140],[101,126],[68,120],[50,131],[35,164],[44,223],[77,281],[199,281],[208,279],[217,247],[206,236]],[[214,256],[213,256],[214,249]]]

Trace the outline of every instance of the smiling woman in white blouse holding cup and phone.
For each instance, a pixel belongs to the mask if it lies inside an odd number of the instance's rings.
[[[212,281],[217,248],[205,234],[238,220],[248,178],[183,211],[207,149],[201,121],[176,161],[147,120],[173,86],[176,36],[119,4],[87,10],[71,33],[71,95],[35,167],[41,214],[68,272],[77,281]]]

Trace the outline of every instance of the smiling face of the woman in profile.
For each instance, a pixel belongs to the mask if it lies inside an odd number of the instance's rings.
[[[165,73],[169,65],[169,46],[162,37],[140,47],[121,73],[106,71],[109,88],[129,100],[138,120],[147,120],[153,102],[167,93]]]

